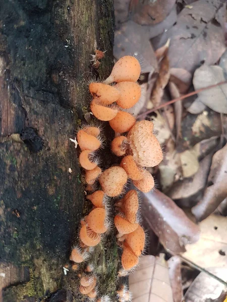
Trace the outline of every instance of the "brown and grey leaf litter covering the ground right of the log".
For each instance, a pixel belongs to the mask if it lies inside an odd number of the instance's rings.
[[[153,256],[142,257],[145,264],[130,277],[133,301],[152,296],[152,302],[223,302],[225,288],[212,275],[224,280],[227,269],[226,1],[114,4],[113,54],[134,55],[142,66],[143,93],[132,110],[138,119],[153,120],[164,151],[163,161],[150,170],[156,189],[141,196],[150,236],[145,253]],[[162,281],[157,286],[156,272]]]

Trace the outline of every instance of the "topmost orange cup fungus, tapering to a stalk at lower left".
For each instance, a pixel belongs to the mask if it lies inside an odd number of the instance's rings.
[[[103,83],[136,82],[139,79],[140,72],[139,61],[133,56],[126,55],[116,62],[109,77]]]

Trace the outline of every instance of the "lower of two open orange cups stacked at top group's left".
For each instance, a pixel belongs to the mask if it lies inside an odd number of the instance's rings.
[[[101,121],[110,121],[118,114],[116,108],[107,107],[105,104],[99,102],[98,99],[91,101],[90,108],[94,116]]]

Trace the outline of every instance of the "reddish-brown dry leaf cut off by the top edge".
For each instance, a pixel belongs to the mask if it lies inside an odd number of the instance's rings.
[[[162,22],[172,11],[176,0],[157,0],[154,3],[145,0],[143,4],[137,1],[134,3],[133,20],[141,25],[154,25]]]

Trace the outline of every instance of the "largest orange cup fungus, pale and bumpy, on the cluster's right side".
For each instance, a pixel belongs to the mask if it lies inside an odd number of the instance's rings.
[[[141,167],[157,166],[163,159],[161,146],[152,131],[151,121],[139,121],[127,135],[133,158]]]

